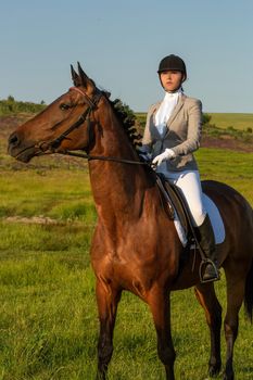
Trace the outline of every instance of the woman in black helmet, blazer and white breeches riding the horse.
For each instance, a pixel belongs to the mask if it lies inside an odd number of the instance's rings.
[[[187,69],[179,56],[165,56],[157,73],[165,97],[148,112],[141,152],[151,154],[156,172],[184,193],[199,231],[201,248],[208,258],[202,280],[214,281],[219,279],[214,232],[202,202],[200,175],[192,155],[200,147],[202,105],[200,100],[182,92]]]

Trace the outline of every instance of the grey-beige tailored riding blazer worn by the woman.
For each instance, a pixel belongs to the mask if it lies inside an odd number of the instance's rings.
[[[154,125],[154,115],[161,102],[151,105],[142,139],[143,148],[152,153],[152,156],[163,153],[166,148],[172,149],[176,157],[167,160],[167,170],[198,170],[195,159],[192,154],[200,147],[202,130],[202,104],[201,101],[188,98],[184,93],[179,98],[167,122],[167,130],[162,138]]]

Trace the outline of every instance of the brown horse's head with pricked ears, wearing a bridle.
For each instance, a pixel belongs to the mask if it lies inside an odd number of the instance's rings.
[[[79,63],[78,74],[71,68],[74,87],[10,136],[9,153],[15,159],[28,162],[46,153],[90,149],[90,115],[96,113],[101,92]]]

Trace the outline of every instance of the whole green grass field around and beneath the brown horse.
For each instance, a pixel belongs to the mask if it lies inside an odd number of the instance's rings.
[[[253,153],[201,149],[198,160],[203,179],[233,186],[253,205]],[[89,245],[96,211],[88,172],[51,163],[0,172],[0,380],[94,379],[98,318]],[[224,276],[216,289],[225,307]],[[192,290],[173,293],[172,304],[176,379],[206,379],[204,313]],[[253,327],[243,311],[240,319],[236,375],[252,380]],[[114,346],[110,379],[165,378],[150,312],[130,293],[119,304]],[[222,347],[224,358],[224,340]]]

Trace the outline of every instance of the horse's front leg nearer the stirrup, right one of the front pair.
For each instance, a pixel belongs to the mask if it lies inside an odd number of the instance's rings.
[[[175,380],[174,362],[176,353],[173,346],[170,333],[170,301],[169,293],[165,294],[164,289],[153,289],[148,303],[152,312],[154,326],[157,335],[157,353],[161,362],[165,366],[166,379]]]

